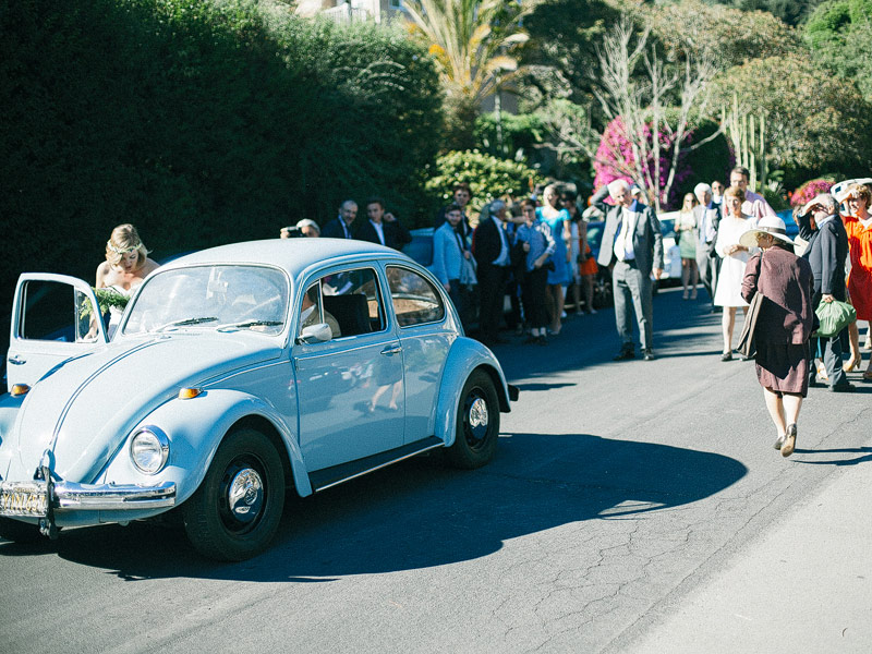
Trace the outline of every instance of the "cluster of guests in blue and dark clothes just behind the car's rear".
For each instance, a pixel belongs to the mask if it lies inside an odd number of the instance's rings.
[[[467,208],[472,192],[459,183],[452,203],[439,211],[433,238],[431,269],[451,295],[464,324],[479,316],[477,337],[485,343],[499,336],[504,303],[511,311],[508,327],[526,334],[524,342],[547,344],[562,329],[565,288],[573,307],[595,313],[594,278],[598,270],[588,243],[586,222],[571,191],[545,186],[541,194],[508,205],[487,203],[471,229]]]

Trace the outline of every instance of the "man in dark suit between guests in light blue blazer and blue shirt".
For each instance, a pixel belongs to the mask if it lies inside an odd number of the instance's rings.
[[[499,338],[506,280],[511,263],[511,244],[505,222],[506,203],[495,199],[482,211],[482,219],[472,234],[472,253],[479,264],[479,329],[482,342],[488,346],[506,342]]]

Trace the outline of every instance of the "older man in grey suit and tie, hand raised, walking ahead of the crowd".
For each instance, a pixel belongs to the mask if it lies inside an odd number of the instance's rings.
[[[615,206],[605,203],[606,195],[611,196]],[[621,340],[615,361],[635,358],[632,311],[635,311],[639,325],[642,356],[651,361],[654,359],[651,274],[656,279],[663,275],[661,221],[651,207],[632,197],[626,180],[615,180],[600,189],[591,198],[591,204],[606,215],[596,261],[601,266],[611,269],[615,323]]]

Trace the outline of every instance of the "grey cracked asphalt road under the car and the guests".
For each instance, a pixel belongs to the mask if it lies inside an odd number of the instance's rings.
[[[688,606],[712,593],[825,586],[742,565],[870,462],[872,386],[813,389],[785,460],[753,364],[719,361],[719,316],[675,291],[654,313],[653,362],[611,362],[611,311],[498,347],[522,392],[492,464],[420,458],[291,500],[256,559],[204,561],[147,524],[0,542],[0,652],[668,651],[711,630]]]

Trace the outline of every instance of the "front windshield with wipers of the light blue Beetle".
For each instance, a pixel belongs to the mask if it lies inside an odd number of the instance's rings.
[[[144,284],[123,334],[241,329],[276,335],[288,317],[288,280],[263,266],[194,266],[158,271]]]

